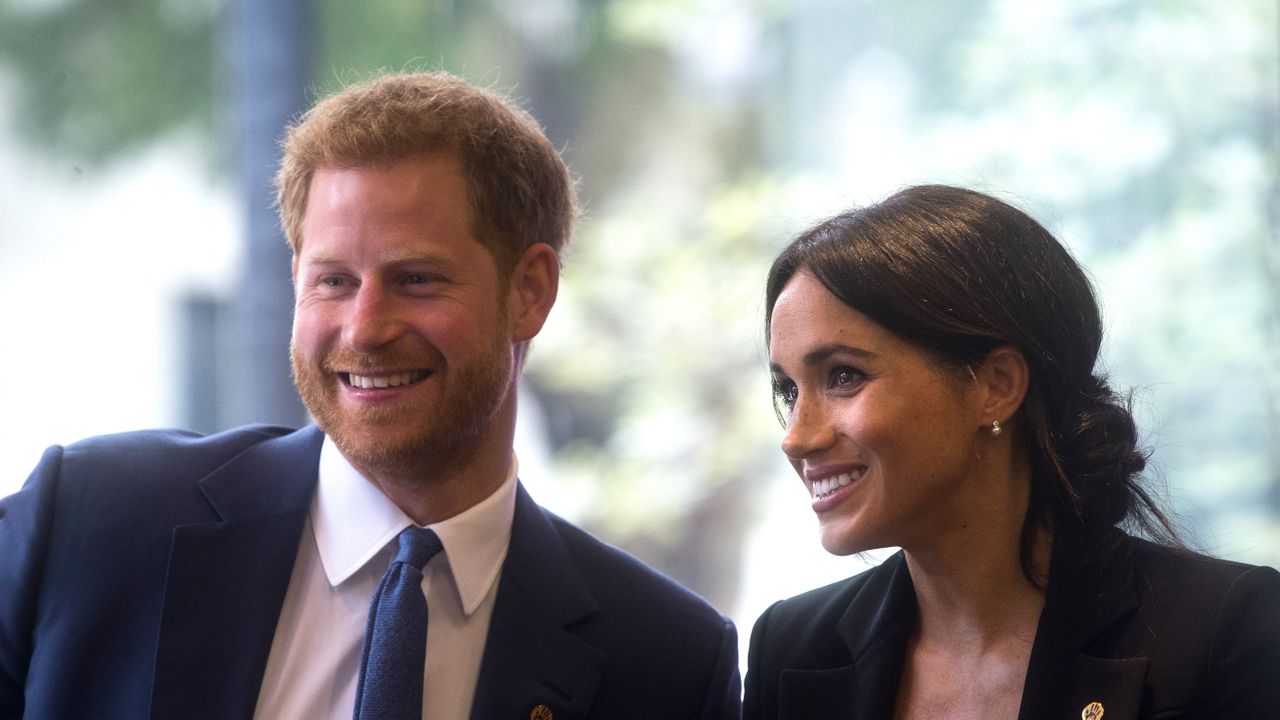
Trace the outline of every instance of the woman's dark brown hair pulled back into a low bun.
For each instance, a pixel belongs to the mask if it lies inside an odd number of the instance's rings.
[[[963,370],[1004,345],[1027,359],[1018,421],[1032,466],[1021,536],[1028,577],[1041,528],[1128,523],[1176,543],[1140,482],[1148,454],[1129,402],[1097,373],[1093,288],[1029,215],[980,192],[919,186],[823,220],[769,270],[765,337],[778,295],[801,270],[946,366]]]

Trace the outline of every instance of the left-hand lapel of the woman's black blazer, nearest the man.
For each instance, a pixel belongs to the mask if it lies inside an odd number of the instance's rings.
[[[901,552],[873,573],[837,625],[851,664],[783,670],[778,678],[780,720],[892,716],[915,616],[915,588]]]

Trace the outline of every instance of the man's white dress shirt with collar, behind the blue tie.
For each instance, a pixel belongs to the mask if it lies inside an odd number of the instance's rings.
[[[444,552],[426,564],[422,579],[429,609],[422,717],[471,714],[515,509],[512,461],[497,492],[428,525]],[[396,556],[396,536],[412,524],[325,437],[256,719],[351,720],[369,606]]]

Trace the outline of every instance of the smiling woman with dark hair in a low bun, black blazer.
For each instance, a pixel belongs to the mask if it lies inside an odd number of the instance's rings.
[[[1036,220],[941,186],[837,215],[765,333],[823,547],[902,551],[760,616],[748,720],[1280,717],[1280,573],[1180,548]]]

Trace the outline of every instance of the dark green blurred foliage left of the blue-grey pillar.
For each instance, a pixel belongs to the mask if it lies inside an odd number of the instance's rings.
[[[214,142],[216,0],[0,4],[0,72],[19,129],[101,164],[186,131]]]

